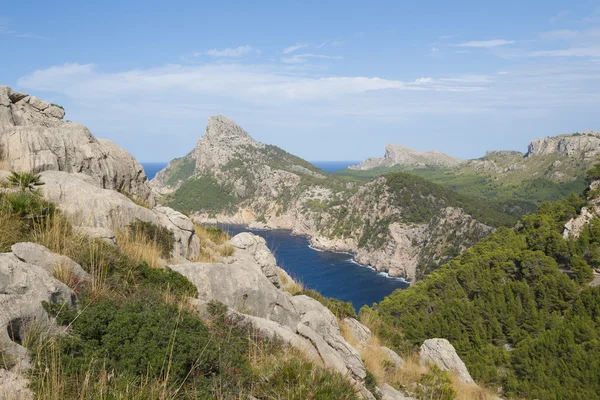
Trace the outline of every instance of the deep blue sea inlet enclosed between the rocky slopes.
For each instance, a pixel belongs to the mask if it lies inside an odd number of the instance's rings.
[[[277,264],[294,279],[325,297],[352,302],[357,311],[365,304],[380,302],[396,289],[409,286],[400,278],[389,278],[385,273],[355,263],[351,254],[314,250],[309,247],[308,239],[289,231],[251,230],[241,225],[220,227],[232,236],[240,232],[262,236],[275,254]]]

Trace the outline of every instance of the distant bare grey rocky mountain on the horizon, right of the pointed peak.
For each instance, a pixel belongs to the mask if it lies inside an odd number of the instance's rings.
[[[392,167],[394,165],[426,166],[435,165],[443,167],[456,167],[463,160],[452,157],[437,150],[420,152],[406,146],[388,143],[385,146],[383,158],[368,158],[358,165],[348,167],[353,170],[369,170],[380,167]]]

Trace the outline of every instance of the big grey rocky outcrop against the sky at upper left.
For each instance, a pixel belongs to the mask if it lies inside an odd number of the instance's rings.
[[[63,117],[56,105],[0,86],[0,159],[15,171],[82,173],[102,188],[155,203],[131,154]]]

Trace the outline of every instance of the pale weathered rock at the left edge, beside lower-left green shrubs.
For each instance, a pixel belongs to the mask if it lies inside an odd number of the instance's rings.
[[[74,304],[75,294],[46,268],[0,254],[0,348],[17,370],[30,368],[27,349],[19,342],[28,321],[47,320],[42,301]]]

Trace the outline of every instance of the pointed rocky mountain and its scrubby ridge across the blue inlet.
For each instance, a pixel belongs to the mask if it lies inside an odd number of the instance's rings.
[[[198,221],[291,229],[314,247],[352,252],[361,263],[414,281],[506,217],[415,179],[384,177],[361,186],[218,116],[196,148],[151,185],[166,204]]]

